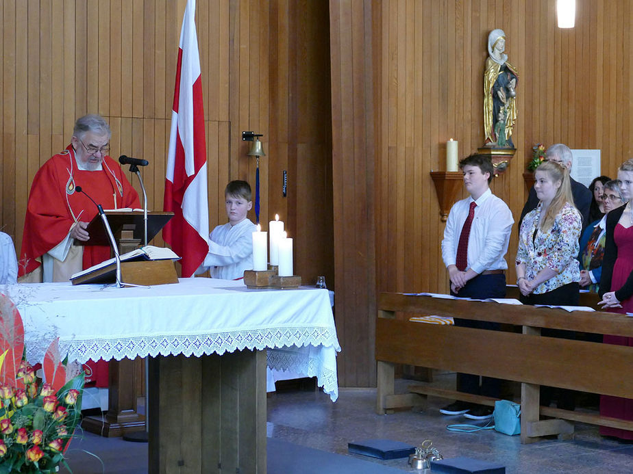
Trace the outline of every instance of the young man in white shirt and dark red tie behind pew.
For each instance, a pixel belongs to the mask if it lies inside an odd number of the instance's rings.
[[[494,168],[490,157],[471,155],[460,161],[464,187],[470,196],[456,202],[449,213],[442,258],[451,280],[451,295],[461,298],[504,298],[512,212],[489,187]],[[455,326],[496,330],[499,324],[455,318]],[[484,341],[482,341],[484,343]],[[500,380],[469,373],[457,374],[457,390],[499,398]],[[443,414],[464,414],[470,419],[491,418],[493,410],[483,405],[455,401],[440,410]]]

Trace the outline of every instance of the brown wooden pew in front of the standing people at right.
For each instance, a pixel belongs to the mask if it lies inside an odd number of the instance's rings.
[[[409,321],[411,314],[406,313],[495,321],[522,330],[423,324]],[[395,364],[408,364],[521,382],[521,443],[551,434],[572,436],[570,421],[633,430],[633,421],[538,403],[541,385],[633,398],[633,347],[541,337],[541,328],[633,337],[633,319],[625,315],[381,293],[376,320],[376,412],[423,408],[427,395],[494,405],[495,399],[489,397],[425,385],[395,394]],[[541,415],[554,418],[541,420]]]

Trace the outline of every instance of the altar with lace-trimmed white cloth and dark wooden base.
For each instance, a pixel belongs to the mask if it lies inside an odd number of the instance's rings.
[[[4,292],[22,315],[29,362],[40,362],[55,337],[62,354],[80,363],[151,357],[151,473],[265,472],[266,365],[316,376],[332,401],[338,397],[340,346],[325,289],[251,290],[184,278],[155,287],[49,283]]]

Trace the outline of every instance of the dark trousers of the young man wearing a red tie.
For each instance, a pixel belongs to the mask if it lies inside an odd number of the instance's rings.
[[[505,298],[506,297],[506,275],[492,274],[475,276],[467,282],[466,286],[460,289],[459,293],[451,295],[460,298],[476,298],[477,300],[485,300],[486,298]],[[472,319],[455,319],[455,326],[460,328],[476,328],[499,330],[499,323],[490,321],[473,321]],[[482,346],[486,341],[481,341]],[[481,379],[481,382],[480,382]],[[473,395],[486,395],[486,397],[499,398],[501,394],[501,380],[492,377],[480,377],[472,373],[457,374],[457,390],[464,393],[472,393]]]

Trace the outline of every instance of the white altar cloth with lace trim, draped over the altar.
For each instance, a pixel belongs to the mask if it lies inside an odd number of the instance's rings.
[[[251,290],[241,281],[182,278],[153,287],[45,283],[2,292],[22,315],[31,363],[42,361],[55,337],[62,354],[80,363],[271,348],[271,369],[316,376],[338,398],[340,345],[325,289]]]

